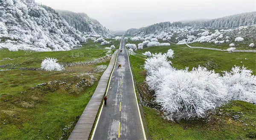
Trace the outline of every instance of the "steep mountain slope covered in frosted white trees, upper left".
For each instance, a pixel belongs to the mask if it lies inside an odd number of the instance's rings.
[[[18,49],[39,51],[70,50],[86,41],[52,8],[40,6],[34,0],[0,0],[1,38],[14,41],[1,43],[0,48],[22,44]]]

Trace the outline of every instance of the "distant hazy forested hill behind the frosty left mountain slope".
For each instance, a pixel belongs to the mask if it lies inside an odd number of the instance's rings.
[[[99,21],[87,16],[85,13],[75,13],[72,11],[56,10],[58,14],[63,17],[69,25],[73,26],[80,32],[90,35],[100,35],[105,38],[110,38],[113,34],[103,27]]]

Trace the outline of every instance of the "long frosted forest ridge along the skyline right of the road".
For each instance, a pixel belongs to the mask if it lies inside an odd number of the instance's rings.
[[[194,20],[186,22],[160,22],[147,27],[131,28],[125,34],[127,35],[146,35],[156,34],[168,30],[169,27],[190,26],[194,29],[199,28],[232,28],[239,26],[249,26],[256,24],[256,12],[235,14],[231,16],[216,18],[212,20]]]

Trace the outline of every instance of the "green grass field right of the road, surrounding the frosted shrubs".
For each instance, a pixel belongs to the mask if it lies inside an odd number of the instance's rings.
[[[128,41],[133,43],[132,41]],[[138,42],[134,43],[137,44]],[[135,51],[136,55],[130,55],[133,73],[136,79],[137,89],[143,100],[151,102],[152,96],[145,88],[146,71],[143,68],[145,51],[151,53],[166,53],[169,49],[174,50],[172,66],[178,69],[198,67],[202,65],[209,70],[221,73],[230,70],[234,65],[245,66],[256,72],[256,55],[254,53],[227,53],[215,50],[193,49],[186,45],[154,46]],[[248,58],[248,60],[245,60]],[[242,62],[242,63],[241,63]],[[150,105],[149,105],[150,106]],[[221,111],[219,111],[221,110]],[[256,138],[256,105],[243,101],[232,101],[226,106],[217,109],[217,113],[211,115],[211,119],[181,120],[172,122],[162,117],[159,112],[150,107],[143,106],[145,120],[151,139],[255,139]],[[219,114],[223,112],[223,114]],[[242,114],[241,114],[242,112]],[[233,116],[240,116],[238,119]]]

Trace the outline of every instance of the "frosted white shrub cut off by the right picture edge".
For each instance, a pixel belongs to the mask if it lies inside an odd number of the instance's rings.
[[[256,77],[247,67],[235,66],[230,72],[224,71],[224,84],[229,100],[242,100],[256,104]]]

